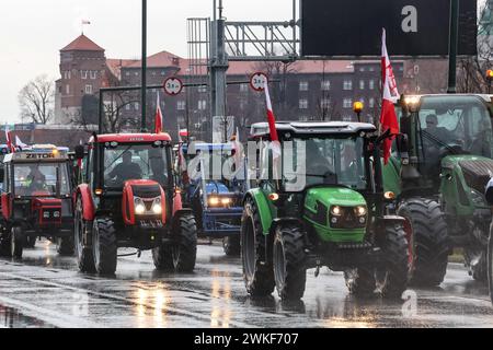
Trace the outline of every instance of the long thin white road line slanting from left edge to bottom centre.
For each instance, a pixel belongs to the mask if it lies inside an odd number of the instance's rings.
[[[20,279],[20,280],[24,280],[24,281],[28,281],[28,282],[33,282],[33,283],[37,283],[37,284],[44,284],[44,285],[51,285],[51,287],[58,287],[58,288],[62,288],[62,289],[67,289],[67,290],[71,290],[71,291],[76,291],[76,292],[85,292],[88,294],[92,294],[92,295],[96,295],[100,298],[104,298],[104,299],[113,299],[113,300],[118,300],[118,301],[123,301],[133,305],[137,305],[138,303],[136,303],[135,301],[124,298],[124,296],[117,296],[117,295],[112,295],[112,294],[107,294],[107,293],[101,293],[101,292],[95,292],[89,289],[83,289],[83,288],[76,288],[76,287],[70,287],[70,285],[64,285],[64,284],[59,284],[59,283],[55,283],[55,282],[48,282],[48,281],[41,281],[41,280],[36,280],[36,279],[32,279],[28,277],[22,277],[22,276],[18,276],[15,273],[11,273],[11,272],[2,272],[2,276],[4,277],[10,277],[11,279]],[[0,299],[1,301],[1,299]],[[158,307],[156,307],[154,305],[150,304],[150,303],[141,303],[138,305],[142,305],[152,310],[157,310]],[[165,311],[170,312],[170,313],[174,313],[177,315],[184,315],[184,316],[190,316],[190,317],[194,317],[196,319],[200,319],[200,320],[206,320],[207,323],[210,323],[210,317],[207,317],[203,314],[199,313],[194,313],[191,311],[186,311],[186,310],[182,310],[182,308],[177,308],[177,307],[172,307],[172,306],[165,306]],[[60,314],[61,315],[61,314]],[[255,327],[253,325],[249,325],[245,323],[241,323],[241,322],[229,322],[229,324],[233,327],[237,328],[252,328]]]

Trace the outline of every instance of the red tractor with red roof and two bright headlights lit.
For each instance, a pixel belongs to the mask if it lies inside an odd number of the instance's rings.
[[[183,209],[167,133],[100,135],[82,159],[82,184],[74,197],[74,242],[79,269],[113,275],[117,250],[152,249],[159,270],[193,271],[197,229]]]

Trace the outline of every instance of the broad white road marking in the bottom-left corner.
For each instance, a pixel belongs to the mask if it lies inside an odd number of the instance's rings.
[[[18,310],[25,316],[43,320],[58,328],[105,328],[105,326],[100,324],[62,314],[45,307],[36,306],[30,303],[21,302],[8,296],[0,296],[0,303],[4,306]]]

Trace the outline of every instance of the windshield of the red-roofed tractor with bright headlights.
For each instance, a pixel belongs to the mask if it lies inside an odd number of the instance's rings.
[[[118,144],[105,148],[104,186],[122,189],[130,179],[152,179],[168,187],[167,147],[152,144]]]

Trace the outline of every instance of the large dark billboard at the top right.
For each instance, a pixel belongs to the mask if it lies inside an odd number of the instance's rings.
[[[477,55],[477,0],[459,0],[459,55]],[[447,56],[450,0],[301,0],[303,56]]]

